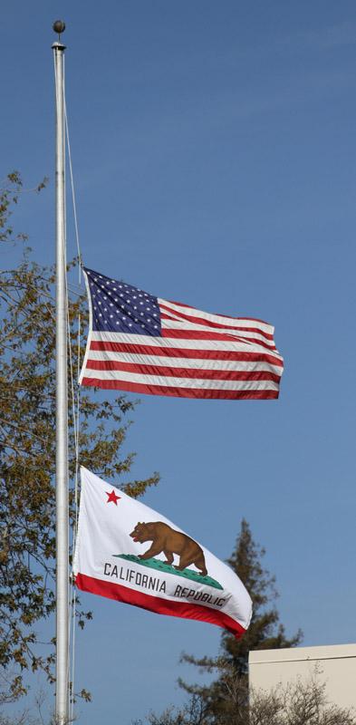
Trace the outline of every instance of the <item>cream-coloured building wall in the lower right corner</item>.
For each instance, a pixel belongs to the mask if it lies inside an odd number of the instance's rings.
[[[356,644],[256,650],[249,654],[249,683],[254,689],[273,690],[318,672],[330,702],[356,707]]]

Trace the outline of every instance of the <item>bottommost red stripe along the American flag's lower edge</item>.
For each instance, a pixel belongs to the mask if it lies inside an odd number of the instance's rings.
[[[224,391],[216,388],[174,388],[166,385],[144,385],[140,382],[121,380],[101,380],[101,378],[82,378],[82,385],[94,388],[129,392],[145,392],[148,395],[170,395],[178,398],[203,398],[222,400],[272,400],[278,398],[279,391]]]

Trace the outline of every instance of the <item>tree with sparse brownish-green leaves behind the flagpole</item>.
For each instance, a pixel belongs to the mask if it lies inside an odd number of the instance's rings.
[[[42,188],[43,184],[40,185]],[[10,215],[22,192],[18,174],[0,189],[0,242],[14,237]],[[55,378],[53,268],[36,264],[26,250],[20,264],[0,273],[0,666],[13,672],[8,693],[24,692],[21,671],[43,668],[53,680],[53,651],[41,652],[34,623],[55,606]],[[68,318],[69,370],[77,354],[77,321],[87,323],[85,295],[72,295]],[[81,349],[81,356],[83,350]],[[80,430],[76,430],[76,383],[69,374],[69,471],[76,476],[76,447],[84,466],[115,477],[130,496],[141,496],[159,475],[126,480],[134,459],[122,447],[134,403],[120,395],[95,400],[81,391]],[[74,402],[74,404],[73,404]],[[75,525],[75,493],[70,491],[70,520]],[[80,609],[79,625],[91,613]],[[53,648],[52,648],[53,649]],[[83,692],[85,695],[85,692]]]

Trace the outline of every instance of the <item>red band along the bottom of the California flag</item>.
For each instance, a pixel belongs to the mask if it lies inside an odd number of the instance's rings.
[[[101,579],[95,579],[93,576],[85,574],[77,574],[75,584],[78,589],[82,589],[82,592],[91,592],[91,594],[105,596],[107,599],[116,599],[117,602],[139,606],[141,609],[148,609],[149,612],[216,624],[218,627],[223,627],[228,632],[235,634],[236,639],[239,639],[245,633],[244,627],[228,614],[218,612],[216,609],[210,609],[210,607],[202,604],[172,602],[170,599],[161,599],[158,596],[152,596],[152,594],[143,594],[130,589],[128,586],[104,582]]]

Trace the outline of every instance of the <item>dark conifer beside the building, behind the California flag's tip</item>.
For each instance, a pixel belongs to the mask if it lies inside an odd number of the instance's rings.
[[[186,691],[203,699],[206,714],[212,723],[217,723],[220,716],[230,720],[234,718],[236,708],[239,707],[238,703],[246,697],[250,650],[293,647],[302,640],[300,630],[290,639],[285,636],[284,625],[279,622],[279,614],[274,605],[278,595],[275,590],[275,577],[264,569],[261,563],[263,556],[265,549],[255,543],[251,529],[243,518],[236,547],[227,559],[227,564],[244,582],[252,598],[251,623],[239,640],[236,640],[233,634],[224,631],[221,640],[222,652],[216,658],[197,659],[190,654],[182,656],[183,662],[197,665],[201,672],[217,673],[217,680],[206,686],[189,685],[179,680],[179,684]]]

